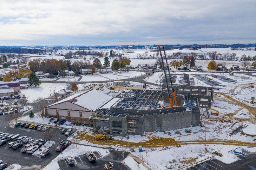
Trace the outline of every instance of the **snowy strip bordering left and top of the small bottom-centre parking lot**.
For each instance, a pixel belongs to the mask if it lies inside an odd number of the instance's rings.
[[[92,146],[84,146],[84,145],[76,145],[72,144],[68,146],[65,150],[62,151],[63,154],[59,154],[54,160],[52,160],[46,167],[44,167],[44,170],[57,170],[59,169],[58,160],[63,160],[67,157],[75,157],[79,155],[84,155],[87,151],[98,151],[101,155],[106,156],[106,149],[103,148],[96,148]]]

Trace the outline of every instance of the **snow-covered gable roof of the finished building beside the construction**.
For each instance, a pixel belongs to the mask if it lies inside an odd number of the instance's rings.
[[[98,90],[91,89],[86,92],[69,96],[66,99],[60,100],[47,107],[54,106],[63,102],[71,102],[90,111],[95,111],[101,106],[105,105],[112,98],[113,97],[108,94],[104,94],[102,92],[99,92]]]

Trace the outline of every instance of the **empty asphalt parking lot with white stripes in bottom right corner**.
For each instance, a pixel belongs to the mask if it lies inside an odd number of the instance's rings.
[[[241,149],[242,153],[244,155],[240,154],[235,154],[232,151],[230,151],[230,154],[236,155],[240,160],[235,161],[231,164],[225,164],[221,161],[218,161],[216,159],[211,159],[205,162],[202,162],[194,167],[189,167],[187,170],[220,170],[220,169],[225,169],[225,170],[234,170],[234,169],[239,169],[239,170],[247,170],[252,168],[256,168],[256,154],[249,152],[245,149]],[[254,160],[254,161],[253,161]],[[239,166],[237,166],[239,165]]]

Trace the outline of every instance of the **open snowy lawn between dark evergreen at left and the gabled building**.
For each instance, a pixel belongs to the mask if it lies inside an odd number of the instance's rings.
[[[41,83],[40,86],[21,89],[21,93],[25,94],[29,102],[33,102],[38,97],[47,98],[54,92],[67,88],[68,85],[65,83]]]

